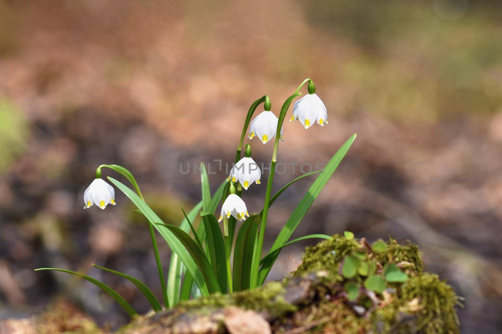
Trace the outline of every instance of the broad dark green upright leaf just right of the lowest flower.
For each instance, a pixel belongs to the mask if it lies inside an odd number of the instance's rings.
[[[256,236],[261,221],[260,215],[251,215],[242,223],[237,232],[233,250],[234,291],[249,288]]]

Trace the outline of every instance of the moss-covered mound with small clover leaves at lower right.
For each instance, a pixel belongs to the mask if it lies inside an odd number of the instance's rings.
[[[348,257],[359,262],[355,274],[344,271]],[[373,272],[365,269],[367,263],[373,265]],[[316,271],[321,275],[315,287],[317,298],[285,319],[289,326],[305,326],[310,321],[319,322],[310,332],[459,332],[458,296],[438,275],[426,272],[418,246],[411,242],[400,245],[391,238],[371,246],[364,238],[335,234],[307,247],[303,262],[291,276]],[[372,276],[385,286],[367,284]]]

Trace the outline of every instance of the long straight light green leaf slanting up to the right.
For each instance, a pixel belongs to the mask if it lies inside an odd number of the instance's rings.
[[[277,236],[276,241],[272,245],[271,251],[269,253],[281,247],[291,237],[296,227],[302,220],[303,216],[305,216],[305,213],[307,213],[307,210],[310,208],[314,200],[317,198],[317,196],[321,192],[326,182],[328,182],[331,175],[333,175],[334,171],[340,164],[340,161],[343,159],[348,149],[350,148],[350,145],[352,145],[352,143],[354,142],[355,137],[356,135],[353,134],[342,145],[342,147],[340,147],[340,149],[335,153],[335,155],[331,158],[331,160],[329,160],[329,162],[326,164],[326,167],[324,168],[323,172],[319,174],[319,176],[315,179],[314,183],[310,186],[305,195],[303,195],[302,200],[295,208],[295,210],[293,211],[293,213],[291,214],[291,216],[289,217],[288,221],[283,226],[281,231],[279,232],[279,235]],[[279,254],[277,253],[277,255]],[[272,265],[274,264],[277,255],[272,256],[272,259],[267,262],[267,265],[265,264],[262,265],[258,275],[259,285],[262,285],[263,282],[265,281],[265,278],[267,278],[267,275],[269,274],[269,271]]]

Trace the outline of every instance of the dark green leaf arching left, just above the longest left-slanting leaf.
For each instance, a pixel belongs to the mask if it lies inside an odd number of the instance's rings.
[[[157,225],[163,225],[167,229],[169,229],[178,239],[179,241],[186,247],[189,251],[192,259],[197,264],[199,268],[198,272],[202,273],[202,277],[206,282],[207,289],[210,293],[221,292],[221,289],[218,285],[218,280],[216,279],[216,275],[211,268],[211,264],[209,263],[206,254],[204,254],[204,250],[197,245],[197,243],[188,235],[187,232],[180,229],[178,226],[157,223]],[[183,262],[185,263],[185,262]],[[187,268],[188,269],[188,268]]]

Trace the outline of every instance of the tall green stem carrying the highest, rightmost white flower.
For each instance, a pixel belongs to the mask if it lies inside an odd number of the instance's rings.
[[[288,112],[288,108],[291,105],[291,102],[293,99],[295,99],[297,96],[302,95],[299,93],[300,89],[310,81],[310,79],[305,79],[300,86],[298,86],[298,89],[295,91],[293,95],[291,95],[283,104],[281,108],[281,113],[279,114],[279,122],[277,122],[277,132],[276,133],[281,133],[281,128],[284,122],[284,118],[286,117],[286,113]],[[265,203],[263,206],[263,213],[262,213],[262,222],[260,226],[260,233],[258,235],[258,245],[255,251],[255,256],[253,259],[253,268],[251,271],[251,281],[250,281],[250,288],[255,288],[258,284],[258,272],[260,269],[260,259],[262,257],[262,248],[263,248],[263,243],[265,239],[265,227],[267,226],[267,216],[269,213],[269,203],[270,203],[270,194],[272,192],[272,183],[274,182],[274,174],[275,174],[275,169],[276,169],[276,162],[277,162],[277,150],[279,148],[279,138],[280,136],[276,136],[276,140],[274,142],[274,151],[272,152],[272,164],[270,167],[270,175],[269,175],[269,180],[267,182],[267,192],[265,194]]]

